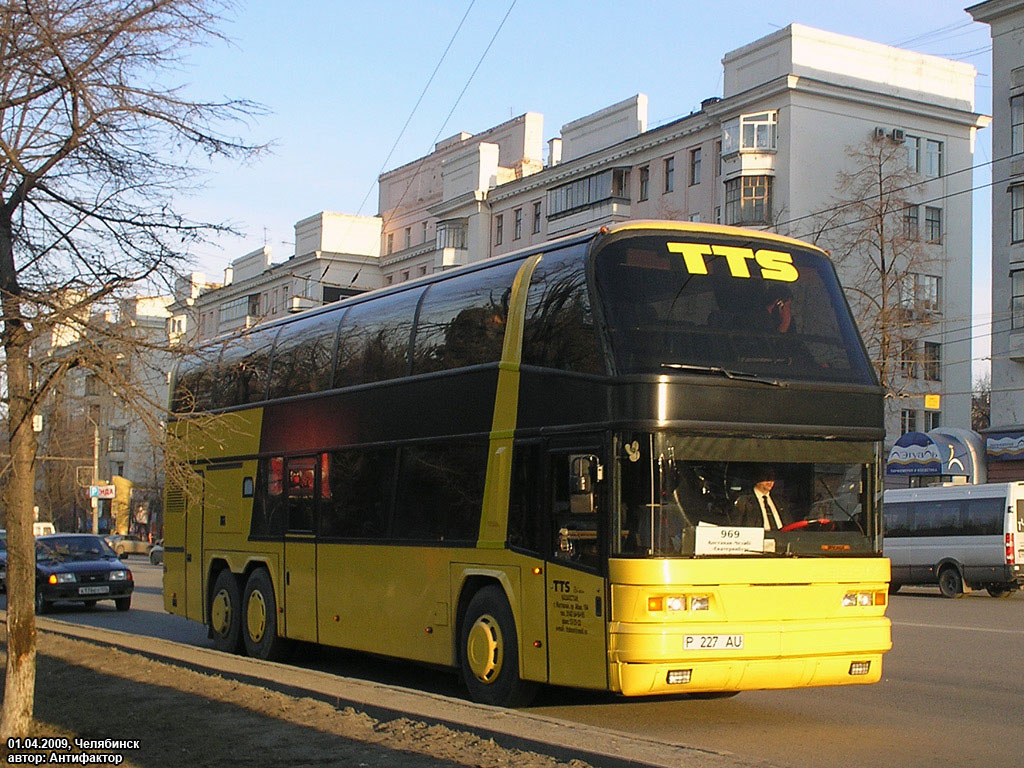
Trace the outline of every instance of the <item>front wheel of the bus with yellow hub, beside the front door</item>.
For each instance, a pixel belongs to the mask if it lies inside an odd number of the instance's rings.
[[[469,601],[460,632],[459,666],[474,701],[525,707],[537,693],[536,683],[519,677],[515,620],[500,587],[484,587]]]

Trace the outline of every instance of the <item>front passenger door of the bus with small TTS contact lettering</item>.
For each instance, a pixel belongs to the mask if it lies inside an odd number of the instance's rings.
[[[608,483],[598,443],[579,445],[548,453],[548,680],[606,688],[607,597],[601,561]]]

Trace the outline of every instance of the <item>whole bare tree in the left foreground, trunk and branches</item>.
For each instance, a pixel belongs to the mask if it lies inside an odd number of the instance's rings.
[[[94,308],[172,279],[217,227],[174,199],[193,158],[252,157],[227,126],[258,111],[166,85],[189,46],[218,36],[226,0],[17,0],[0,6],[0,306],[10,464],[7,676],[0,738],[25,736],[34,707],[33,416],[68,371],[126,384],[131,339]],[[40,365],[37,339],[81,341]],[[119,347],[118,339],[123,341]],[[118,342],[118,343],[116,343]],[[159,421],[159,419],[158,419]]]

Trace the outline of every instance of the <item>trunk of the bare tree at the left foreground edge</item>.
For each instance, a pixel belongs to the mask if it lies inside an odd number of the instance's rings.
[[[22,316],[10,220],[0,221],[0,290],[7,355],[10,473],[7,510],[7,677],[0,743],[28,736],[36,697],[36,552],[32,536],[36,435],[32,431],[30,337]]]

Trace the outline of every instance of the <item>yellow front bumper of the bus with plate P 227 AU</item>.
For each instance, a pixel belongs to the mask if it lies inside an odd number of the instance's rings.
[[[890,628],[885,616],[699,629],[613,624],[609,678],[628,696],[877,683]],[[721,647],[740,637],[741,648]]]

